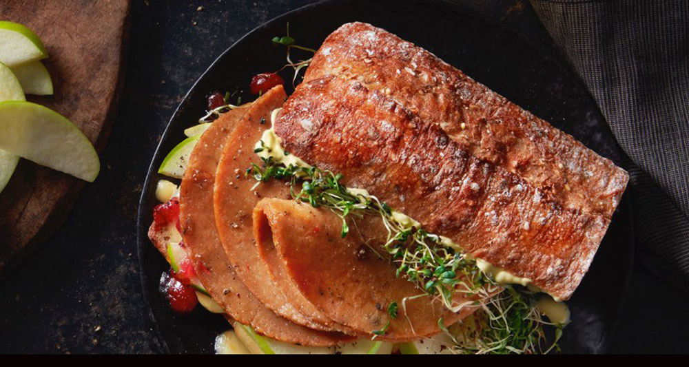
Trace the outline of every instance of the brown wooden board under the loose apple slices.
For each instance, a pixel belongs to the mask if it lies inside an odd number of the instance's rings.
[[[129,0],[0,0],[0,20],[41,37],[54,96],[27,96],[70,118],[99,153],[105,147],[123,81]],[[0,275],[59,229],[85,182],[20,160],[0,193]]]

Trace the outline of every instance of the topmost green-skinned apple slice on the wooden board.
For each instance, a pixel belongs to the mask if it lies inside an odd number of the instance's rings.
[[[39,36],[19,23],[0,21],[0,62],[15,67],[48,57]]]

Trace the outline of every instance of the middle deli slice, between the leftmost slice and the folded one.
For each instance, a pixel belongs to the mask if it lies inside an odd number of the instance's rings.
[[[263,94],[227,140],[215,176],[213,207],[216,227],[230,264],[251,293],[268,308],[309,328],[353,333],[312,305],[300,303],[298,298],[283,293],[258,255],[251,227],[251,212],[260,198],[288,198],[289,187],[282,185],[282,182],[271,181],[251,191],[256,182],[247,178],[245,171],[251,164],[260,164],[254,153],[254,145],[269,128],[267,121],[270,120],[270,113],[281,107],[285,98],[287,95],[282,86]]]

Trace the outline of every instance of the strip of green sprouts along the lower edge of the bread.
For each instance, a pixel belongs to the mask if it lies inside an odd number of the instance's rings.
[[[261,144],[255,151],[264,149],[267,147]],[[459,331],[449,330],[442,319],[438,320],[440,329],[451,337],[453,345],[449,347],[456,353],[548,353],[557,349],[562,326],[542,319],[533,292],[497,284],[471,256],[445,246],[440,236],[425,231],[418,224],[395,220],[393,209],[376,196],[348,189],[341,182],[341,174],[317,167],[285,166],[271,156],[260,159],[261,167],[254,164],[246,172],[257,181],[256,185],[271,179],[289,181],[294,200],[330,209],[342,219],[342,238],[349,233],[349,216],[380,216],[388,231],[383,248],[397,266],[398,277],[415,283],[423,294],[438,297],[453,312],[466,307],[477,308],[469,318],[471,326],[466,320],[451,326],[462,328]],[[407,300],[402,300],[405,313]],[[391,303],[387,311],[391,319],[395,319],[398,304]],[[555,326],[555,341],[544,350],[546,325]],[[388,326],[389,323],[375,331],[374,337],[384,335]]]

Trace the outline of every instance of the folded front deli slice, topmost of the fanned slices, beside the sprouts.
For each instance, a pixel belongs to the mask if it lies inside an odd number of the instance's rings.
[[[341,238],[342,220],[329,209],[266,198],[254,209],[254,237],[260,251],[280,258],[289,278],[283,281],[292,282],[326,315],[364,335],[388,325],[381,339],[418,339],[439,333],[438,319],[454,324],[474,311],[464,307],[453,313],[438,297],[395,276],[396,266],[382,247],[387,231],[379,217],[349,222],[356,231]],[[460,295],[453,298],[455,304],[466,301]],[[399,307],[394,318],[387,312],[393,302]]]

